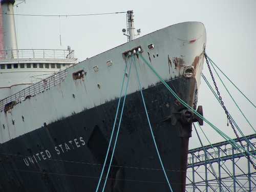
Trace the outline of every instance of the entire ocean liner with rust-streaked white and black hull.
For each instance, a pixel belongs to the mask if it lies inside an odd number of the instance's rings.
[[[104,180],[104,191],[170,191],[168,182],[173,191],[185,191],[191,124],[202,121],[145,60],[202,114],[204,25],[184,22],[137,37],[133,11],[127,11],[128,41],[78,62],[70,47],[19,50],[14,3],[1,1],[0,191],[96,191]],[[120,96],[122,79],[129,86]],[[115,118],[124,97],[122,117]],[[113,124],[121,118],[114,151]]]

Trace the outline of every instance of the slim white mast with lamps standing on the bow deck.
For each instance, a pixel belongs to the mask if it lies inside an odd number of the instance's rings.
[[[122,32],[123,32],[123,35],[127,36],[127,42],[135,39],[135,37],[140,35],[140,33],[141,33],[140,29],[137,29],[137,34],[135,34],[135,32],[134,32],[135,27],[134,27],[133,10],[127,11],[127,13],[126,13],[126,29],[122,29]]]

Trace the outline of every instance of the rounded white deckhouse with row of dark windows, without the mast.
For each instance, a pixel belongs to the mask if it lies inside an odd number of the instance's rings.
[[[74,65],[74,50],[0,50],[0,100]]]

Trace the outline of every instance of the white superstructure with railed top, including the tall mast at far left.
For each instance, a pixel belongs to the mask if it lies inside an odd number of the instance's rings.
[[[74,65],[74,50],[18,49],[13,0],[2,0],[0,100]],[[3,49],[3,50],[1,50]]]

